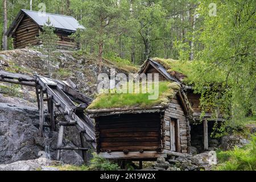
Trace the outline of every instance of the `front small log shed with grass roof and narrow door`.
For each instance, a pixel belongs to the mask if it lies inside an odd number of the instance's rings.
[[[100,156],[151,160],[165,150],[189,152],[192,109],[187,97],[177,82],[160,82],[159,88],[154,101],[127,93],[101,94],[92,102],[87,112],[95,119]]]

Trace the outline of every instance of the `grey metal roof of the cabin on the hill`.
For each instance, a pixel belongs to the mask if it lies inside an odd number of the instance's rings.
[[[39,11],[31,11],[31,10],[20,10],[19,14],[14,19],[13,23],[11,24],[9,30],[7,31],[7,35],[10,35],[13,31],[16,23],[18,22],[19,16],[22,14],[26,14],[29,16],[38,26],[42,27],[46,24],[48,18],[51,21],[51,25],[55,28],[61,30],[67,30],[71,32],[76,32],[77,28],[85,29],[84,26],[79,24],[79,22],[73,18],[72,16],[65,16],[65,15],[58,15],[52,13],[43,13]]]

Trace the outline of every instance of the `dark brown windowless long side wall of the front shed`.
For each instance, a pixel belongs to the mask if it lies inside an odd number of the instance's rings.
[[[110,115],[95,119],[97,152],[163,149],[159,113]]]

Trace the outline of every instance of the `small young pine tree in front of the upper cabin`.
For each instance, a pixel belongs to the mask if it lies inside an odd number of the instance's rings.
[[[46,24],[43,26],[43,31],[39,34],[39,40],[43,44],[40,51],[42,53],[46,53],[47,55],[47,62],[48,62],[48,76],[50,76],[50,63],[55,59],[56,56],[56,49],[57,49],[57,41],[59,37],[55,34],[55,28],[51,26],[51,21],[47,20]]]

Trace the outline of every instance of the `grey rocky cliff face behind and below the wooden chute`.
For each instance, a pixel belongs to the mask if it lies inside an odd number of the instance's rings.
[[[97,88],[97,60],[77,52],[57,54],[57,59],[51,63],[52,77],[67,81],[80,92],[93,97]],[[46,63],[46,56],[32,49],[0,52],[0,69],[9,72],[46,75]],[[102,72],[109,74],[111,68],[129,73],[105,60]],[[44,137],[39,137],[38,127],[35,88],[0,82],[0,164],[37,159],[40,155],[54,160],[57,132],[50,132],[44,127]],[[64,133],[64,146],[80,145],[76,129],[68,128]],[[78,151],[61,151],[61,161],[77,165],[83,163]]]

